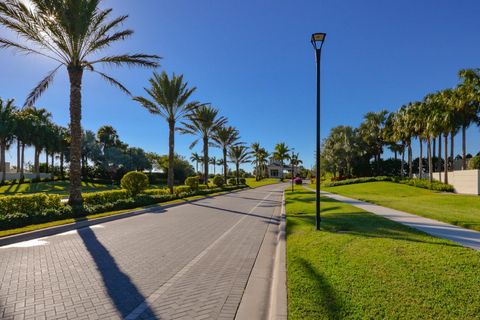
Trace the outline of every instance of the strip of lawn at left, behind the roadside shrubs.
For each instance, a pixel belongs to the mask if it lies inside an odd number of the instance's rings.
[[[117,186],[82,182],[83,192],[103,191],[117,189]],[[14,185],[6,185],[0,187],[0,195],[13,195],[21,193],[55,193],[55,194],[68,194],[70,187],[69,181],[53,181],[53,182],[38,182],[38,183],[22,183]]]

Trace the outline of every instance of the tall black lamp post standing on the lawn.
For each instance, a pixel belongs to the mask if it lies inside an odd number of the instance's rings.
[[[317,62],[317,136],[316,136],[316,211],[315,211],[315,224],[317,230],[320,230],[320,56],[322,53],[323,42],[325,41],[326,33],[314,33],[310,42],[315,49],[315,58]]]

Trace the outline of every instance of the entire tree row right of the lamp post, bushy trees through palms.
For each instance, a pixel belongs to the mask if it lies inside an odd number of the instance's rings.
[[[401,155],[399,172],[402,176],[407,152],[408,176],[412,178],[412,142],[418,139],[418,176],[423,177],[424,171],[428,170],[428,178],[432,181],[434,170],[443,171],[443,181],[448,183],[448,171],[454,169],[455,136],[461,132],[462,170],[465,170],[466,130],[472,124],[480,125],[480,69],[461,70],[458,75],[461,81],[455,88],[428,94],[422,101],[403,105],[396,112],[368,112],[358,128],[333,128],[322,148],[322,158],[327,167],[336,170],[335,167],[342,162],[348,175],[355,159],[367,157],[373,158],[379,174],[381,154],[387,146],[395,154],[395,159],[397,154]],[[423,163],[425,144],[426,167]],[[434,160],[437,160],[436,163]]]

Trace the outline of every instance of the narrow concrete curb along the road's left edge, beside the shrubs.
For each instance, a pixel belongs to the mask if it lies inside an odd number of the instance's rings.
[[[29,232],[14,234],[14,235],[11,235],[11,236],[6,236],[6,237],[0,238],[0,247],[6,246],[6,245],[9,245],[9,244],[13,244],[13,243],[17,243],[17,242],[29,241],[29,240],[33,240],[33,239],[37,239],[37,238],[50,237],[50,236],[54,236],[54,235],[59,234],[59,233],[64,233],[64,232],[67,232],[67,231],[72,231],[72,230],[77,230],[77,229],[81,229],[81,228],[85,228],[85,227],[90,227],[90,226],[100,224],[100,223],[105,223],[105,222],[110,222],[110,221],[115,221],[115,220],[119,220],[119,219],[130,218],[130,217],[135,217],[135,216],[138,216],[138,215],[141,215],[141,214],[144,214],[144,213],[158,212],[158,211],[161,212],[164,209],[168,209],[168,208],[177,207],[177,206],[181,206],[181,205],[184,205],[184,204],[196,202],[196,201],[203,200],[203,199],[206,199],[206,198],[209,198],[209,197],[213,198],[213,197],[222,196],[224,194],[235,193],[235,192],[239,192],[239,191],[246,190],[246,189],[247,188],[237,189],[237,190],[228,191],[228,192],[225,192],[225,193],[222,193],[222,194],[219,194],[219,195],[213,195],[213,196],[206,195],[202,198],[198,198],[198,199],[194,199],[194,200],[184,200],[184,201],[178,202],[178,203],[170,203],[170,204],[165,204],[165,205],[159,204],[155,207],[146,208],[146,209],[140,209],[140,210],[132,209],[132,211],[119,213],[119,214],[115,214],[115,215],[111,215],[111,216],[107,216],[107,217],[100,217],[100,218],[95,218],[95,219],[91,219],[91,220],[82,220],[82,221],[79,221],[79,222],[72,222],[72,223],[62,224],[62,225],[59,225],[59,226],[39,229],[39,230],[35,230],[35,231],[29,231]]]

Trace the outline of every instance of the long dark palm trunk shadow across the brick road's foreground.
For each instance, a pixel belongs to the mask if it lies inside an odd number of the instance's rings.
[[[112,303],[122,318],[127,317],[145,300],[145,297],[140,293],[130,277],[120,269],[115,258],[98,240],[92,229],[88,227],[79,229],[78,234],[102,276],[104,286]],[[148,306],[145,312],[149,314],[149,319],[156,319]]]

